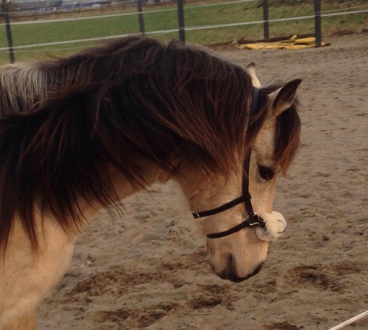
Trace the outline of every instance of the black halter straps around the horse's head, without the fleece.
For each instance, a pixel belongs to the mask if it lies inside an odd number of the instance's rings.
[[[251,118],[257,113],[257,102],[258,102],[258,88],[253,87],[253,97],[252,97],[252,104],[251,104],[251,111],[249,117]],[[262,227],[265,225],[263,220],[258,216],[257,213],[254,213],[252,203],[251,203],[251,194],[249,193],[249,164],[250,164],[251,154],[250,152],[244,159],[244,176],[243,176],[243,195],[240,197],[233,199],[229,203],[226,203],[224,205],[221,205],[219,207],[216,207],[215,209],[208,210],[208,211],[202,211],[202,212],[194,212],[192,211],[192,214],[195,219],[206,217],[206,216],[212,216],[213,214],[217,214],[220,212],[223,212],[225,210],[231,209],[231,207],[234,207],[235,205],[238,205],[240,203],[245,204],[245,208],[247,209],[248,216],[244,219],[244,221],[229,230],[221,231],[220,233],[214,233],[207,235],[208,238],[219,238],[224,237],[227,235],[231,235],[233,233],[236,233],[239,230],[242,230],[243,228],[249,227]]]

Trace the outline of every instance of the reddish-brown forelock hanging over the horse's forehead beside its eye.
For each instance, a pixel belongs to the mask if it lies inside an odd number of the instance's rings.
[[[266,95],[276,91],[284,84],[262,86],[260,89],[259,102],[266,99]],[[277,117],[275,129],[275,162],[285,175],[287,169],[296,156],[300,144],[301,121],[298,115],[299,101],[296,98],[293,105]]]

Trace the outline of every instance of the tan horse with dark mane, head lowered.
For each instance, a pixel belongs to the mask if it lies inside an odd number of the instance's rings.
[[[252,66],[137,36],[1,68],[0,328],[35,329],[78,233],[154,182],[176,180],[201,211],[244,195],[246,177],[254,209],[272,212],[276,173],[298,149],[300,80],[253,84]],[[200,232],[243,223],[244,198],[198,217]],[[206,241],[213,271],[235,282],[259,271],[267,248],[252,228]]]

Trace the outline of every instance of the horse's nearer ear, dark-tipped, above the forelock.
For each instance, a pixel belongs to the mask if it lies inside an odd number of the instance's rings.
[[[289,109],[293,105],[296,91],[300,83],[301,79],[289,81],[286,85],[268,95],[272,104],[271,108],[274,116],[279,116],[283,111]]]

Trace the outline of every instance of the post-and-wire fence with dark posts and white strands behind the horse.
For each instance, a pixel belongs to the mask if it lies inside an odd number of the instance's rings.
[[[217,29],[217,28],[229,28],[234,26],[245,26],[245,25],[263,25],[263,37],[265,39],[269,38],[269,24],[274,22],[286,22],[286,21],[296,21],[300,19],[314,19],[314,33],[316,36],[316,47],[321,46],[321,18],[323,17],[333,17],[339,15],[350,15],[350,14],[358,14],[358,13],[368,13],[368,4],[361,5],[361,6],[353,6],[348,8],[336,8],[333,10],[326,10],[321,11],[321,0],[314,0],[314,13],[311,15],[304,15],[304,16],[296,16],[296,17],[284,17],[284,18],[269,18],[269,4],[268,0],[262,0],[262,18],[254,21],[243,21],[243,22],[233,22],[233,23],[222,23],[222,24],[204,24],[204,25],[187,25],[184,24],[184,9],[191,10],[193,8],[202,8],[202,7],[216,7],[216,6],[224,6],[229,4],[241,4],[241,3],[248,3],[254,2],[259,0],[233,0],[233,1],[226,1],[220,3],[207,3],[207,4],[198,4],[198,5],[190,5],[184,6],[183,0],[177,0],[176,7],[172,8],[163,8],[163,9],[154,9],[154,10],[143,10],[142,9],[142,0],[128,0],[123,1],[120,4],[130,4],[135,5],[137,4],[137,10],[129,11],[124,13],[113,13],[113,14],[103,14],[103,15],[89,15],[89,16],[82,16],[82,17],[67,17],[67,18],[56,18],[56,19],[36,19],[36,20],[25,20],[25,21],[15,21],[10,22],[10,14],[19,14],[19,12],[8,12],[2,13],[4,17],[4,23],[0,23],[0,26],[5,26],[6,28],[6,35],[7,35],[7,47],[0,47],[0,52],[9,52],[10,62],[13,63],[15,61],[14,50],[17,52],[37,52],[39,50],[32,50],[32,48],[36,47],[49,47],[49,46],[59,46],[59,45],[68,45],[68,44],[75,44],[75,43],[84,43],[84,42],[98,42],[102,40],[108,39],[115,39],[120,38],[132,34],[146,34],[149,36],[159,36],[165,35],[169,33],[176,33],[178,32],[179,38],[182,42],[185,42],[185,32],[186,31],[196,31],[196,30],[206,30],[206,29]],[[358,10],[352,10],[357,9]],[[365,9],[366,8],[366,9]],[[177,27],[173,29],[160,29],[155,31],[145,31],[145,22],[144,22],[144,15],[145,14],[152,14],[152,13],[164,13],[164,12],[177,12]],[[27,11],[29,13],[30,11]],[[22,12],[23,13],[23,12]],[[34,11],[33,11],[34,13]],[[30,44],[23,44],[23,45],[13,45],[13,36],[11,32],[11,26],[25,26],[25,25],[35,25],[35,24],[60,24],[61,22],[78,22],[78,21],[86,21],[86,20],[98,20],[104,18],[118,18],[118,17],[126,17],[136,15],[138,16],[138,26],[139,32],[130,32],[130,33],[122,33],[122,34],[112,34],[107,36],[96,36],[92,38],[79,38],[79,39],[70,39],[70,40],[60,40],[60,41],[52,41],[52,42],[42,42],[42,43],[30,43]],[[79,48],[86,48],[87,46],[72,46],[72,47],[62,47],[57,48],[57,50],[71,50],[71,49],[79,49]],[[43,49],[43,51],[52,51],[53,49]]]

